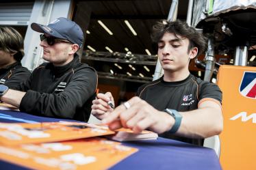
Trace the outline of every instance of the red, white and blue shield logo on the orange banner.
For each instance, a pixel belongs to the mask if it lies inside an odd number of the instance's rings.
[[[246,98],[256,99],[256,72],[244,72],[240,94]]]

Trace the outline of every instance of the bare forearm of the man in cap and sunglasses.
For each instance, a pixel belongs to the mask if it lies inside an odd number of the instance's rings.
[[[14,107],[20,107],[21,100],[25,94],[26,93],[23,91],[8,89],[8,91],[3,96],[1,96],[1,101],[12,104]]]

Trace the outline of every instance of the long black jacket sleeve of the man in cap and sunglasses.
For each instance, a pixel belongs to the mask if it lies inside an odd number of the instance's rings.
[[[28,90],[21,100],[20,110],[36,115],[72,119],[77,108],[94,95],[97,88],[97,73],[92,68],[75,72],[64,91],[59,94],[44,94]]]

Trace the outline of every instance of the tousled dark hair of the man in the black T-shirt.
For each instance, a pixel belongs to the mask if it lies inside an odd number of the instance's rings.
[[[151,35],[153,42],[158,43],[166,32],[174,33],[176,37],[177,35],[179,35],[188,38],[188,40],[190,41],[190,46],[188,46],[188,50],[197,47],[199,49],[197,56],[204,53],[207,48],[207,38],[203,36],[203,33],[199,33],[199,31],[196,31],[196,29],[188,26],[187,23],[181,20],[162,20],[160,22],[157,22],[157,24],[153,25],[153,33]]]

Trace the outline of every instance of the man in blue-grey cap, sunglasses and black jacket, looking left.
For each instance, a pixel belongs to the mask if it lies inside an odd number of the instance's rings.
[[[20,111],[87,122],[96,96],[97,72],[76,54],[84,34],[79,25],[57,18],[49,25],[32,23],[40,35],[42,63],[18,90],[2,89],[1,100]],[[1,91],[0,91],[1,92]]]

